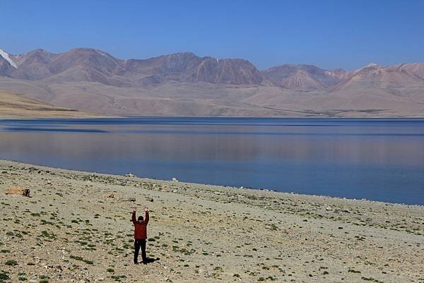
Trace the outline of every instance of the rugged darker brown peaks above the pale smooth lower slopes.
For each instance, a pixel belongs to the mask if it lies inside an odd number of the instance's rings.
[[[408,70],[408,76],[418,78],[415,80],[417,83],[422,83],[419,80],[424,81],[423,63],[394,66],[368,64],[353,71],[341,68],[326,70],[310,64],[282,64],[259,71],[245,59],[200,57],[192,52],[165,54],[148,59],[117,59],[107,52],[92,48],[74,48],[59,54],[35,49],[26,54],[8,55],[13,62],[16,61],[16,68],[4,66],[13,67],[6,60],[0,64],[0,75],[9,78],[49,80],[49,82],[83,80],[129,87],[158,85],[166,80],[175,80],[228,85],[273,85],[300,91],[320,89],[331,91],[331,88],[339,88],[337,85],[346,83],[354,76],[358,79],[358,73],[361,74],[361,71],[362,76],[365,76],[364,73],[368,69],[378,67],[382,72],[387,72],[399,66]],[[72,68],[76,71],[69,71]],[[64,72],[65,77],[61,76]],[[371,75],[370,72],[369,74]]]

